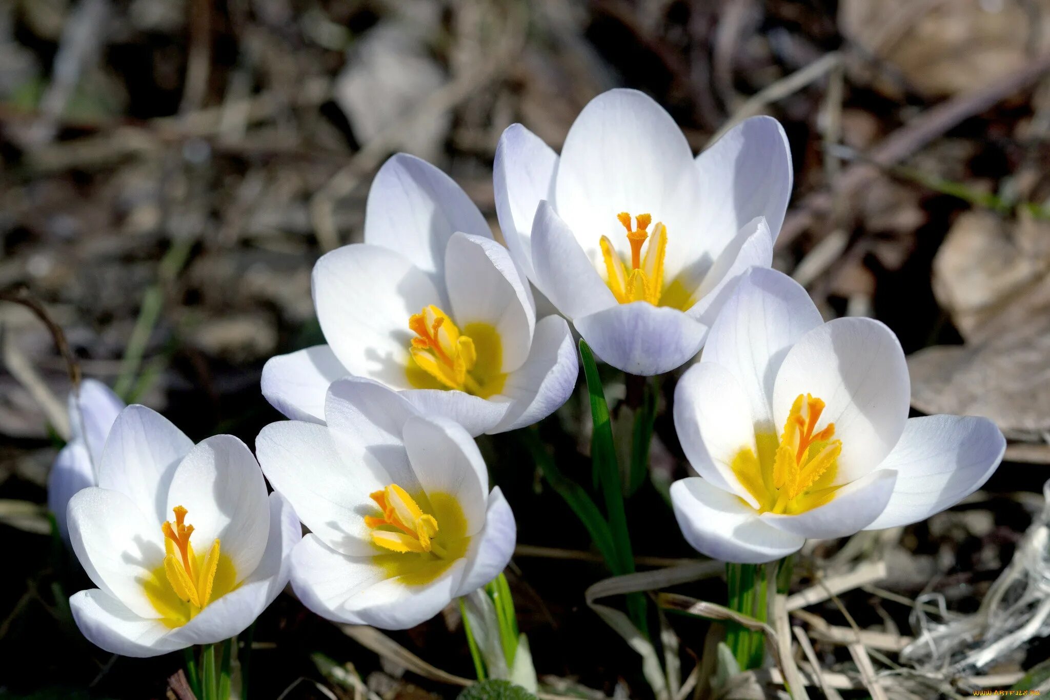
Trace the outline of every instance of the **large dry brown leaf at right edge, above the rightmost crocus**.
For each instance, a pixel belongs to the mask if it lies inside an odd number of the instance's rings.
[[[986,416],[1017,439],[1050,430],[1050,225],[960,216],[934,258],[933,291],[967,344],[908,358],[911,404]]]

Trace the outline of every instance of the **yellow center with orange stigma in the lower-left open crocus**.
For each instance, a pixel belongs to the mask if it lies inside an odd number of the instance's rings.
[[[171,628],[185,624],[210,601],[236,588],[236,572],[230,557],[222,553],[216,537],[207,554],[197,555],[190,544],[193,526],[186,524],[186,508],[172,508],[175,522],[166,521],[164,564],[143,581],[146,597]]]

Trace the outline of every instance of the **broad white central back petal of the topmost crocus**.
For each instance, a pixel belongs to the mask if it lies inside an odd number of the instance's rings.
[[[630,250],[616,220],[626,211],[667,226],[673,263],[679,243],[700,227],[698,175],[686,136],[663,107],[637,90],[609,90],[584,107],[565,137],[554,201],[592,259],[602,235]]]

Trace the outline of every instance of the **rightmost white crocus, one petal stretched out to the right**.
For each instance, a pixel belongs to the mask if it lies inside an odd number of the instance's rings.
[[[959,503],[999,466],[1003,433],[972,416],[909,419],[909,394],[889,328],[824,323],[790,277],[751,271],[675,391],[675,428],[699,473],[671,486],[686,539],[758,564]]]

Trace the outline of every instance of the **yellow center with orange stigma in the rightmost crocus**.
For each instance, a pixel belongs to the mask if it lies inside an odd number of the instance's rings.
[[[750,447],[733,459],[733,473],[758,501],[759,512],[797,514],[831,501],[842,441],[833,440],[835,424],[816,431],[824,402],[799,394],[792,404],[779,441],[756,434],[758,455]]]

